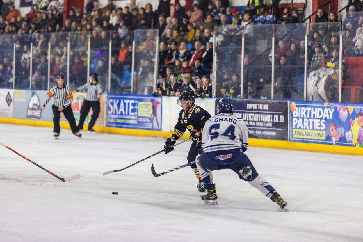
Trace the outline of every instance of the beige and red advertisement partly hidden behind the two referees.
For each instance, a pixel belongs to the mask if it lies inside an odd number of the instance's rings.
[[[81,116],[81,107],[82,104],[86,98],[87,93],[73,93],[73,101],[71,104],[71,108],[73,111],[73,115],[74,115],[74,119],[76,119],[76,123],[78,124],[79,122],[79,117]],[[95,126],[105,126],[105,101],[106,101],[106,95],[102,95],[100,102],[100,110],[99,110],[99,115],[98,115],[98,119],[95,122]],[[93,112],[92,112],[92,108],[90,109],[90,111],[88,112],[88,115],[86,116],[85,119],[85,125],[88,125],[88,123],[91,120],[91,116],[92,116]],[[65,118],[64,114],[61,113],[61,122],[64,123],[68,123],[67,119]]]

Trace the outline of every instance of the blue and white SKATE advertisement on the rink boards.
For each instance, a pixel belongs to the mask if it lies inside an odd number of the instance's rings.
[[[161,131],[161,110],[161,98],[108,95],[106,126]]]

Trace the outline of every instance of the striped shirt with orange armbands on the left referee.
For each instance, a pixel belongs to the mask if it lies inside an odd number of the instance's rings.
[[[45,97],[43,103],[44,107],[50,101],[51,97],[54,97],[54,106],[56,107],[68,107],[73,101],[73,94],[70,91],[69,86],[65,85],[62,88],[55,85],[48,91],[48,95]]]

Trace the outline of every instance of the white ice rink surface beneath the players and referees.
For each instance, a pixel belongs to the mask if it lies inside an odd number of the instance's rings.
[[[283,212],[230,170],[213,172],[218,206],[204,204],[186,163],[191,142],[125,171],[164,139],[0,124],[0,241],[363,241],[363,158],[250,147],[257,171],[289,203]],[[332,147],[333,148],[333,147]],[[113,195],[112,192],[118,192]]]

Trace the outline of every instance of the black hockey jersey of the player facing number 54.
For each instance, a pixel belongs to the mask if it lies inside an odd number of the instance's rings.
[[[174,127],[173,134],[171,138],[177,140],[185,132],[189,130],[200,130],[203,132],[204,123],[211,117],[211,115],[203,108],[194,104],[189,111],[181,110],[179,113],[178,123]],[[201,138],[200,138],[201,141]]]

